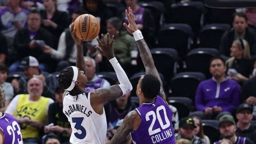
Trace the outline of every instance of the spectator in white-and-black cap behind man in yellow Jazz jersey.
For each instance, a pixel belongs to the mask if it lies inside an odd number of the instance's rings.
[[[25,76],[21,77],[19,81],[17,79],[12,80],[14,92],[15,94],[27,94],[27,83],[29,79],[37,77],[44,83],[42,96],[54,99],[55,89],[58,87],[58,80],[54,75],[41,71],[38,66],[39,63],[33,56],[27,56],[22,59],[19,67],[23,69]]]

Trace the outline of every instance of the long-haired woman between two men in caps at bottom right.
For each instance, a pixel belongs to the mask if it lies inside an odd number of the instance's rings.
[[[210,139],[204,135],[204,129],[203,129],[203,123],[200,117],[198,116],[192,116],[192,119],[195,122],[195,125],[197,126],[194,131],[195,135],[199,138],[203,138],[206,144],[210,144]]]

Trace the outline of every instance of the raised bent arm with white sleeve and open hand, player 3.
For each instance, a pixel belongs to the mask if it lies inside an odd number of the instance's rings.
[[[132,84],[130,83],[124,70],[115,58],[114,49],[112,47],[114,36],[112,36],[111,42],[109,42],[109,33],[107,33],[107,42],[104,39],[104,35],[102,34],[101,36],[103,38],[103,42],[100,42],[100,40],[97,38],[99,46],[96,46],[96,48],[99,50],[100,54],[107,57],[107,59],[113,66],[117,78],[120,82],[120,85],[113,85],[110,88],[100,88],[93,92],[93,95],[97,98],[97,101],[99,103],[104,103],[115,100],[122,95],[130,92],[132,90]]]

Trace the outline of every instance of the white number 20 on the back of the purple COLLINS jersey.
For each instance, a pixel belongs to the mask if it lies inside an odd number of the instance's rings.
[[[162,117],[160,116],[160,113],[159,113],[160,110],[163,110],[164,119],[165,119],[165,122],[166,122],[165,125],[163,124]],[[168,119],[168,117],[167,117],[165,107],[164,107],[163,105],[157,107],[157,114],[156,114],[154,111],[149,111],[149,112],[147,112],[147,114],[146,114],[146,121],[149,121],[149,120],[150,120],[150,119],[149,119],[149,116],[150,116],[150,115],[153,116],[153,120],[152,120],[151,125],[150,125],[149,128],[148,128],[149,136],[154,135],[154,134],[156,134],[156,133],[159,133],[159,132],[161,131],[160,128],[157,128],[157,129],[154,129],[154,130],[153,130],[153,126],[155,125],[155,122],[156,122],[156,117],[157,117],[157,119],[158,119],[158,121],[159,121],[160,126],[161,126],[162,129],[166,129],[166,128],[168,128],[168,127],[171,125],[171,124],[170,124],[170,121],[169,121],[169,119]],[[156,115],[157,115],[157,116],[156,116]]]

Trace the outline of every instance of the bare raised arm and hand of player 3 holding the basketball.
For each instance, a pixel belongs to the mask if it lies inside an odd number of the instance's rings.
[[[80,38],[80,39],[77,38],[75,35],[75,31],[76,31],[76,28],[74,28],[74,23],[72,23],[72,25],[70,27],[70,33],[76,43],[76,49],[77,49],[77,51],[76,51],[76,67],[78,67],[79,70],[82,70],[87,77],[85,62],[83,59],[83,51],[82,51],[83,38]]]

